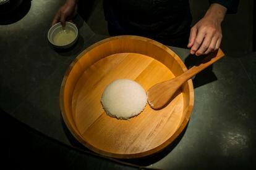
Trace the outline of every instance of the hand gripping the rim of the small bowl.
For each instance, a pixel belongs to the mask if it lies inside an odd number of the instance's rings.
[[[65,26],[65,21],[75,16],[77,12],[77,3],[75,0],[67,0],[63,6],[61,6],[53,18],[51,25],[61,22],[62,26]]]

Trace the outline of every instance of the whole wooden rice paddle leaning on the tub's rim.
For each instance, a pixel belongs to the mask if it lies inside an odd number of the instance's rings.
[[[219,49],[218,51],[205,56],[200,64],[190,68],[182,75],[150,87],[150,89],[147,91],[148,104],[155,110],[165,107],[169,102],[171,102],[173,95],[183,83],[222,57],[224,57],[224,53],[221,51],[221,49]]]

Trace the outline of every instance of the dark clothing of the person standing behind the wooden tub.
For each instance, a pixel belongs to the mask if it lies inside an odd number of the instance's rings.
[[[234,4],[218,2],[228,9]],[[236,8],[230,7],[231,12]],[[169,46],[187,46],[192,21],[189,0],[105,0],[104,9],[111,36],[133,34]]]

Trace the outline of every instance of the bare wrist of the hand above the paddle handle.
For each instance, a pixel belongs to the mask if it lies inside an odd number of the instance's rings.
[[[211,19],[216,20],[217,22],[222,22],[226,15],[226,7],[221,6],[220,4],[213,3],[210,5],[205,17],[210,17]]]

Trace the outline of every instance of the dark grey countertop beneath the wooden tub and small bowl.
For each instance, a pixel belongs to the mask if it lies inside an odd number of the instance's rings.
[[[77,44],[53,49],[47,32],[62,2],[27,1],[20,20],[0,20],[0,108],[46,136],[80,147],[62,121],[59,89],[70,62],[106,36],[93,33],[78,15]],[[193,63],[187,49],[171,49],[187,65]],[[255,53],[226,56],[196,76],[194,110],[181,136],[158,155],[123,161],[160,169],[256,166],[255,58]]]

